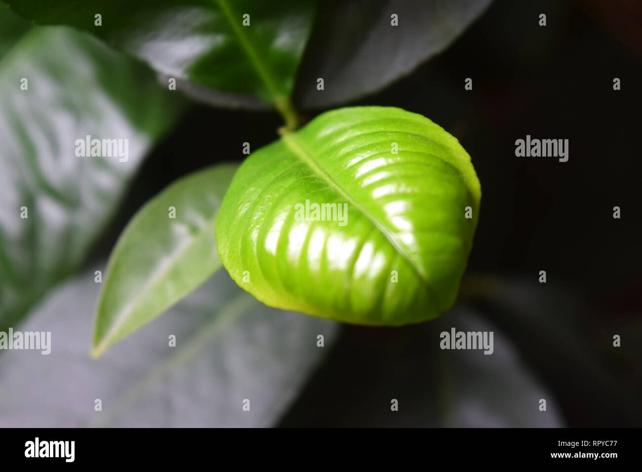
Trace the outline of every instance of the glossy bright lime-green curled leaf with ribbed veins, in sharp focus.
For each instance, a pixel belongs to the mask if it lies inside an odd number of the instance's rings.
[[[420,322],[455,301],[480,198],[470,156],[429,119],[334,110],[243,162],[216,223],[218,252],[270,306]]]

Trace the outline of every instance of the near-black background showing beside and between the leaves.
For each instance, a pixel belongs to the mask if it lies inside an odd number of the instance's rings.
[[[510,335],[568,426],[642,425],[641,10],[621,0],[494,1],[444,53],[345,104],[417,112],[471,154],[483,197],[468,273],[519,286],[511,303],[471,303]],[[169,182],[241,161],[243,142],[256,150],[281,123],[271,112],[194,105],[146,160],[92,259],[107,256],[132,214]],[[516,157],[515,141],[526,134],[569,139],[568,162]],[[612,218],[616,205],[620,220]],[[535,310],[535,321],[521,310]],[[430,396],[426,329],[345,326],[281,425],[425,426],[421,415],[381,405]]]

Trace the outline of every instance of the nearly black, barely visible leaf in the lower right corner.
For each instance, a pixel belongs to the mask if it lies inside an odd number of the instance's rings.
[[[471,298],[510,336],[581,427],[642,424],[639,311],[587,302],[575,288],[525,277],[484,277]],[[601,318],[602,313],[609,316]],[[620,347],[613,336],[620,335]],[[599,408],[596,407],[599,405]],[[638,408],[630,408],[638,405]],[[594,409],[591,417],[583,411]]]

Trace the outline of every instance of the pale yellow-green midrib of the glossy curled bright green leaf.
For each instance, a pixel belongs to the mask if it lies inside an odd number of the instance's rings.
[[[284,133],[281,136],[281,139],[283,140],[284,144],[286,147],[297,157],[299,158],[300,161],[304,162],[320,179],[324,180],[324,182],[334,191],[336,191],[339,195],[341,195],[342,198],[347,200],[347,202],[354,206],[360,213],[362,213],[366,218],[370,220],[372,224],[374,224],[379,231],[385,236],[386,240],[390,244],[392,244],[392,247],[397,250],[401,256],[406,259],[406,262],[412,267],[415,272],[417,272],[417,275],[421,278],[421,280],[428,285],[428,274],[424,270],[422,270],[421,267],[419,267],[416,263],[413,262],[412,257],[410,256],[410,252],[408,252],[408,249],[404,246],[404,244],[397,238],[397,236],[390,231],[383,223],[379,222],[377,218],[374,217],[372,213],[370,213],[363,205],[358,203],[354,198],[351,197],[347,191],[338,183],[336,180],[333,179],[333,177],[327,173],[321,166],[317,164],[315,161],[314,156],[312,153],[308,152],[306,150],[305,144],[302,143],[302,141],[299,139],[299,137],[293,133]]]

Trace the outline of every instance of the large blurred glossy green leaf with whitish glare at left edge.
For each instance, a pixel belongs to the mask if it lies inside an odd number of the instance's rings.
[[[26,28],[4,4],[0,28],[0,331],[6,331],[82,264],[144,155],[182,107],[146,67],[88,35]],[[127,155],[76,155],[76,141],[87,135],[120,139]]]

